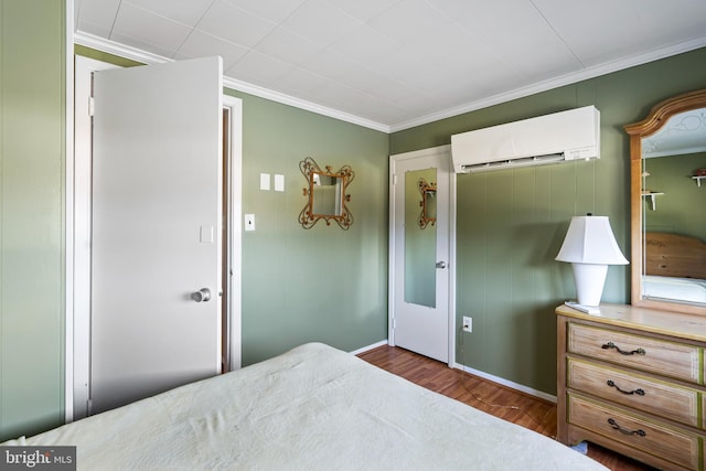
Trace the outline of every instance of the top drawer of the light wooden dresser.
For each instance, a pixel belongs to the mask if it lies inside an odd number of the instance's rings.
[[[694,345],[569,322],[567,350],[693,383],[699,379],[699,349]]]

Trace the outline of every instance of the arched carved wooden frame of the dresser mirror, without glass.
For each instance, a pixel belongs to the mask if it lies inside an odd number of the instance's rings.
[[[633,306],[689,312],[706,315],[706,307],[681,302],[643,299],[642,274],[644,271],[642,232],[642,139],[657,132],[668,119],[680,113],[706,108],[706,89],[677,95],[655,105],[641,121],[625,125],[630,135],[630,212],[631,212],[631,301]]]

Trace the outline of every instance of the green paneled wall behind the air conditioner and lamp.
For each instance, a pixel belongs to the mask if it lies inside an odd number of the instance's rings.
[[[571,216],[610,217],[630,253],[625,124],[673,95],[706,87],[706,49],[515,99],[391,136],[391,153],[448,144],[451,135],[586,105],[601,111],[601,159],[458,176],[457,360],[556,393],[554,308],[576,297],[554,261]],[[603,301],[630,302],[630,267],[608,270]]]

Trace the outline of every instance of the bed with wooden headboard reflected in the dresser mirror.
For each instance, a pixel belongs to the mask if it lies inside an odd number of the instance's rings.
[[[706,303],[706,244],[680,234],[645,233],[642,295]]]

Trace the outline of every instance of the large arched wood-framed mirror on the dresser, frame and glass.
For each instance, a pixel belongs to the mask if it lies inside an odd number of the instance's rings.
[[[706,89],[664,100],[624,129],[632,304],[706,314]]]

